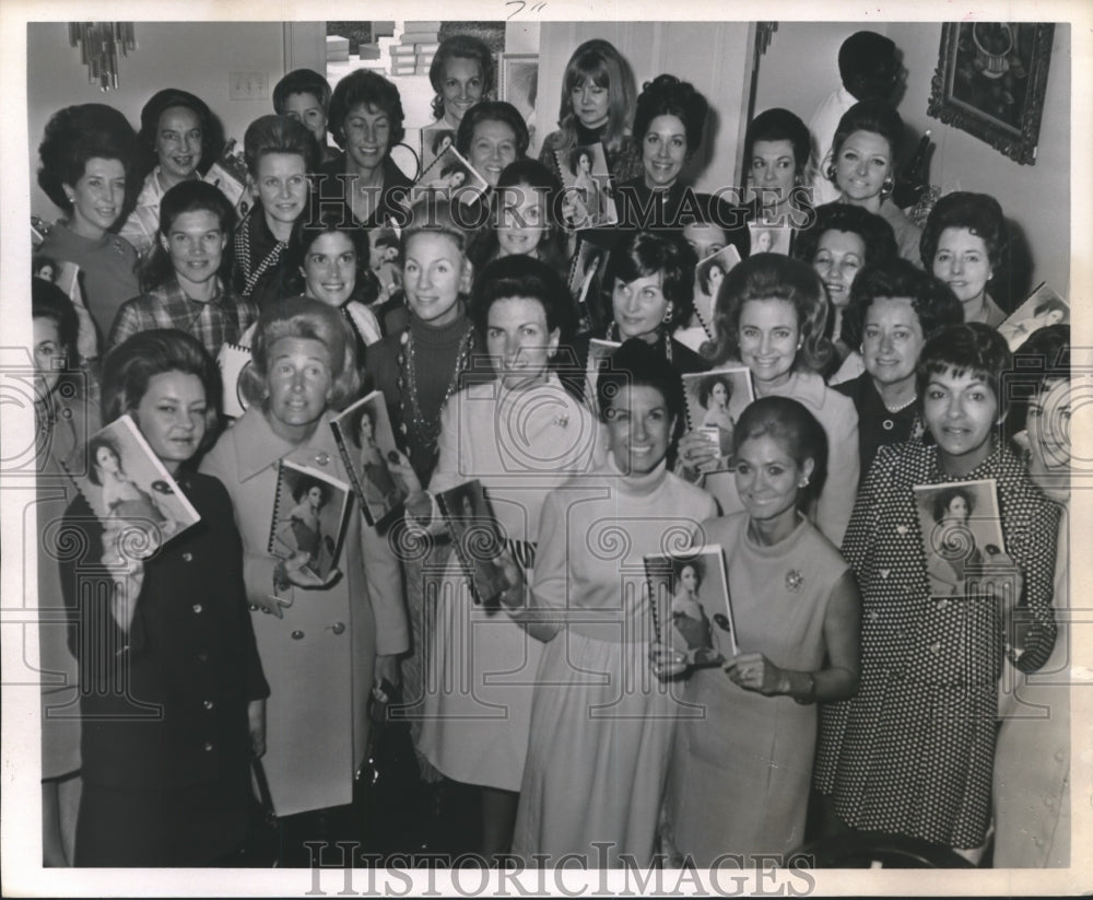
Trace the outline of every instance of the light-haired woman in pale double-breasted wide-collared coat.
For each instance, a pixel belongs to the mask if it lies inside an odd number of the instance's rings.
[[[268,550],[279,460],[348,483],[330,418],[360,383],[349,325],[320,301],[280,301],[259,317],[252,354],[250,407],[201,468],[224,482],[243,536],[247,599],[272,690],[266,771],[283,817],[351,803],[367,691],[397,680],[396,655],[408,641],[398,561],[356,510],[326,580],[306,568],[307,552],[279,560]]]

